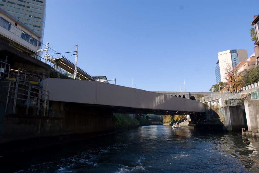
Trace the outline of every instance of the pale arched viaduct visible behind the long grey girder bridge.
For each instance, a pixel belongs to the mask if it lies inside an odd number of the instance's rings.
[[[166,94],[175,97],[188,98],[191,100],[197,100],[197,95],[202,94],[203,96],[210,95],[210,92],[177,92],[177,91],[153,91],[160,94]]]

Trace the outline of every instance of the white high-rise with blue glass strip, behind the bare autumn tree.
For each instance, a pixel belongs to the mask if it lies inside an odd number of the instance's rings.
[[[246,61],[248,59],[248,55],[247,55],[247,50],[234,49],[234,50],[219,52],[218,58],[219,58],[219,61],[217,63],[217,66],[219,66],[221,82],[227,82],[227,80],[225,79],[226,69],[227,68],[233,69],[236,67],[236,65],[239,62]]]

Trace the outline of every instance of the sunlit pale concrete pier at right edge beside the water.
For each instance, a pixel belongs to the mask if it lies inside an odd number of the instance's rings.
[[[245,100],[246,119],[248,130],[258,132],[259,100]]]

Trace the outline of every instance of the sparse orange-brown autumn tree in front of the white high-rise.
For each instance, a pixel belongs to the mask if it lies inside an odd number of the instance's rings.
[[[225,74],[226,77],[225,79],[227,80],[227,90],[229,92],[236,92],[239,86],[242,84],[242,76],[238,72],[237,68],[232,68],[232,65],[227,64],[227,67],[225,69]]]

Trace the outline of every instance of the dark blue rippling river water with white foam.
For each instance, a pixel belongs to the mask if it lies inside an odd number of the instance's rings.
[[[5,171],[259,172],[258,151],[241,133],[152,125],[20,153]]]

